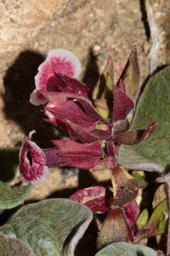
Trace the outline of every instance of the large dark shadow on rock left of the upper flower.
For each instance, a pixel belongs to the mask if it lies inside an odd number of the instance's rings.
[[[35,140],[41,146],[47,146],[47,142],[55,138],[52,125],[42,120],[42,107],[35,107],[29,102],[30,93],[35,89],[34,77],[38,73],[38,66],[44,60],[40,53],[31,50],[20,53],[6,71],[5,92],[2,95],[6,119],[19,124],[25,134],[35,129]]]

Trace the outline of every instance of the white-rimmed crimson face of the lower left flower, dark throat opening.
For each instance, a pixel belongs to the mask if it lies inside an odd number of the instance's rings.
[[[19,159],[21,180],[35,185],[47,178],[48,168],[44,152],[35,142],[30,141],[33,133],[35,131],[30,132],[29,136],[24,139]]]

